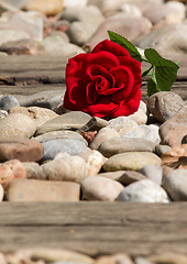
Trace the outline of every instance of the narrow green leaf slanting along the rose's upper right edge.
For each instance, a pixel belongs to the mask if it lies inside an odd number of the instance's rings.
[[[130,53],[132,58],[134,58],[139,62],[143,61],[140,52],[130,41],[128,41],[125,37],[121,36],[120,34],[117,34],[116,32],[112,32],[112,31],[108,31],[108,34],[109,34],[110,41],[124,47]]]

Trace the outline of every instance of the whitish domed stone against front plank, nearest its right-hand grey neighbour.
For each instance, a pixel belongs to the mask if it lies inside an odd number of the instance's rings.
[[[117,200],[135,202],[168,202],[166,191],[150,179],[142,179],[125,187]]]

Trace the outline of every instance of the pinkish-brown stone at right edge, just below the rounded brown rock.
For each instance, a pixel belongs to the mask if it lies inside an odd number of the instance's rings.
[[[172,119],[160,127],[161,143],[178,146],[187,132],[187,106],[183,107]]]

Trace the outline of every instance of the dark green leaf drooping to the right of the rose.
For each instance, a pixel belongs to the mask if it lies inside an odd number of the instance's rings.
[[[160,90],[170,90],[172,85],[176,80],[178,65],[174,62],[163,58],[155,50],[146,48],[145,57],[155,66],[155,78]]]

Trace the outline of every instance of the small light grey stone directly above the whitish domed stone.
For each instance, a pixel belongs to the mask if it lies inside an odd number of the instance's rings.
[[[147,179],[155,182],[157,185],[162,184],[163,169],[161,166],[150,164],[141,168],[139,172],[143,174]]]

